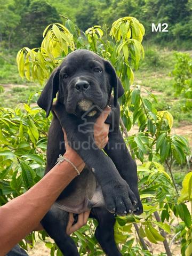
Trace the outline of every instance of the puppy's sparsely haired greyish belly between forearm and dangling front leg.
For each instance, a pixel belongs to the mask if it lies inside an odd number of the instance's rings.
[[[55,203],[63,211],[78,214],[105,205],[101,187],[93,173],[86,168],[68,185]]]

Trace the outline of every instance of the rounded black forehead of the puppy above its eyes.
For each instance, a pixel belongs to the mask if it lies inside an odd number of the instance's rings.
[[[71,52],[61,63],[61,69],[89,69],[95,66],[104,68],[103,61],[97,54],[87,50]]]

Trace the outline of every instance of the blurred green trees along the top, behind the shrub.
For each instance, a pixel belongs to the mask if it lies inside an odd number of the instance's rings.
[[[83,31],[94,25],[109,30],[114,20],[127,15],[146,29],[145,41],[187,50],[192,39],[191,0],[7,0],[0,1],[0,42],[9,49],[38,47],[42,31],[67,16]],[[167,23],[169,33],[152,33],[151,23]]]

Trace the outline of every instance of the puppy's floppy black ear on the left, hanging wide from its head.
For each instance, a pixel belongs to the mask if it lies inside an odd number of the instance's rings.
[[[46,117],[50,114],[53,99],[56,97],[59,89],[59,71],[59,68],[55,68],[53,70],[39,99],[37,100],[38,106],[46,111]]]

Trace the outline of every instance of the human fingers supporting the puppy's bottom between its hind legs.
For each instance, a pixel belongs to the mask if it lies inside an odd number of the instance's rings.
[[[66,229],[67,234],[70,235],[71,233],[74,233],[76,230],[86,225],[86,222],[89,218],[89,214],[90,214],[90,211],[78,214],[77,223],[73,225],[73,222],[74,222],[73,213],[69,212],[69,222]]]

